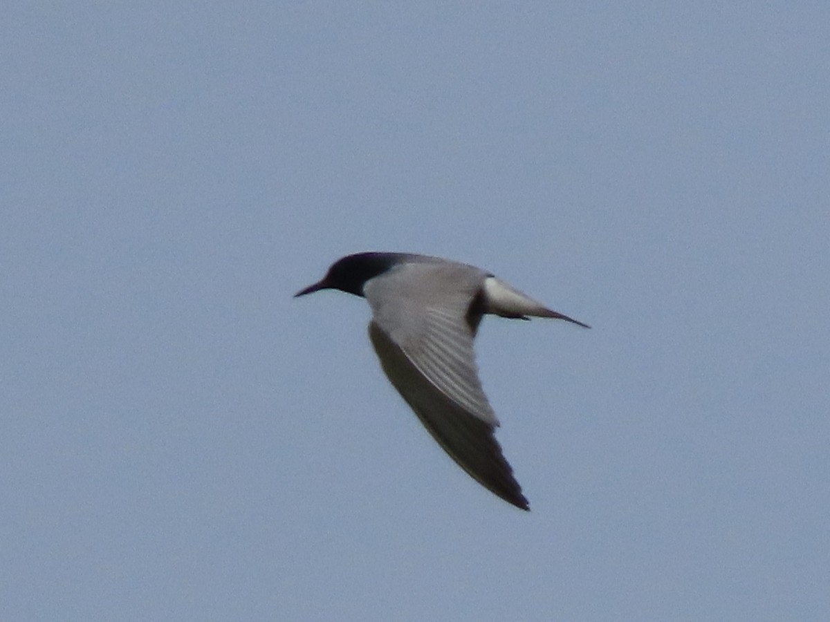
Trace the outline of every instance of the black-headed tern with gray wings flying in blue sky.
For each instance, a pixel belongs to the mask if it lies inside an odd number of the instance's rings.
[[[295,298],[320,289],[369,302],[369,338],[383,372],[418,419],[479,484],[529,510],[494,435],[499,420],[481,388],[473,339],[486,313],[588,324],[548,309],[486,270],[427,255],[348,255]]]

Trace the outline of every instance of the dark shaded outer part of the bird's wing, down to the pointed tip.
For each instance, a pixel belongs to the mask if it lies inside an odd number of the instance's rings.
[[[492,493],[517,508],[530,509],[493,434],[495,425],[440,391],[377,323],[369,323],[369,337],[383,372],[447,454]]]

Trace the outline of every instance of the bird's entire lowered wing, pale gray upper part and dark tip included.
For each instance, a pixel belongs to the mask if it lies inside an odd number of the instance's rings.
[[[487,274],[463,264],[403,265],[371,279],[369,337],[389,381],[473,479],[523,509],[527,499],[494,431],[466,314]]]

